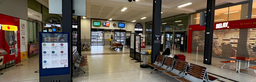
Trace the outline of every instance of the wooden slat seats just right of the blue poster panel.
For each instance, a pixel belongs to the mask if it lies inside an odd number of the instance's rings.
[[[81,68],[87,65],[87,56],[80,55],[77,50],[73,52],[73,66],[74,69],[79,69],[84,72]]]

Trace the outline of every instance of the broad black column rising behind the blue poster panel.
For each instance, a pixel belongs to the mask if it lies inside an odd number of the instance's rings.
[[[62,0],[62,27],[63,27],[63,32],[69,32],[72,34],[72,0]],[[69,47],[70,47],[70,73],[71,76],[73,76],[73,47],[72,47],[72,39],[69,39]],[[71,78],[71,77],[70,77]]]

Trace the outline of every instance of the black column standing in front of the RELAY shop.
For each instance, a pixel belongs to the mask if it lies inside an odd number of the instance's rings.
[[[211,65],[212,63],[212,39],[214,26],[215,0],[207,0],[207,16],[205,26],[205,42],[203,63]]]

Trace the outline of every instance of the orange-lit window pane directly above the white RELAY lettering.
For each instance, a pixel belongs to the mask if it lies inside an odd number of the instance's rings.
[[[228,21],[229,7],[215,10],[214,22]]]

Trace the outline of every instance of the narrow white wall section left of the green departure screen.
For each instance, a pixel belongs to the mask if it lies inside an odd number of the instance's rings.
[[[91,18],[81,19],[81,42],[91,44]]]

